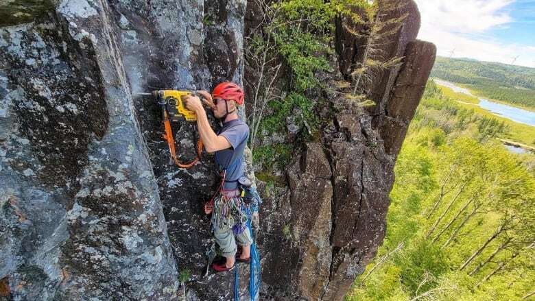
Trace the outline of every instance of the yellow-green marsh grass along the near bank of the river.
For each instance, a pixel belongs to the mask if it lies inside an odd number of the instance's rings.
[[[510,139],[514,142],[535,147],[535,127],[524,123],[516,123],[511,119],[500,117],[498,115],[493,114],[492,112],[489,112],[488,110],[485,110],[484,108],[480,108],[479,106],[477,106],[477,104],[479,104],[479,100],[477,99],[477,97],[473,97],[463,93],[455,93],[451,88],[447,88],[444,86],[439,87],[444,95],[457,100],[457,104],[459,104],[459,106],[468,109],[473,109],[477,114],[483,115],[485,117],[492,117],[499,121],[503,120],[510,128],[510,131],[509,134],[504,135],[502,138]],[[501,103],[511,106],[511,104],[505,103],[503,101],[501,101]]]

